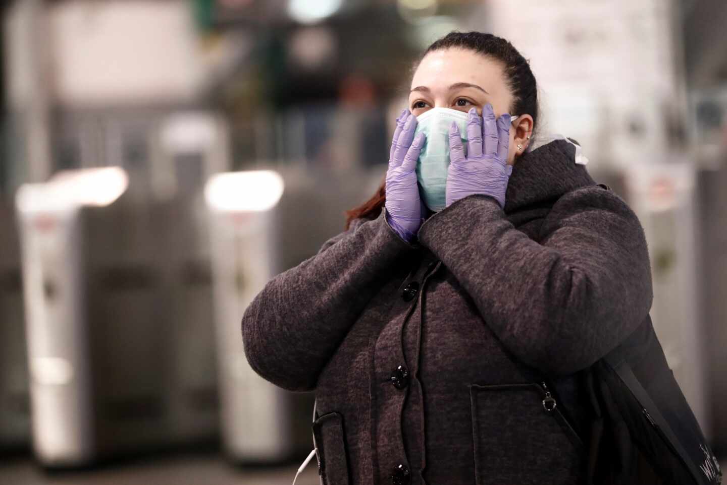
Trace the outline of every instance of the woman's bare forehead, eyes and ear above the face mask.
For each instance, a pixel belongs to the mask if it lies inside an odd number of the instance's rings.
[[[482,107],[486,103],[490,103],[495,115],[499,116],[509,113],[512,102],[513,94],[507,87],[499,62],[467,49],[430,52],[411,78],[409,109],[417,116],[433,107],[449,107],[465,113],[475,107],[482,115]],[[523,115],[510,126],[507,163],[513,165],[515,155],[525,151],[526,136],[532,131],[533,118],[524,113],[510,115],[513,118]],[[523,150],[518,151],[518,143],[522,144]]]

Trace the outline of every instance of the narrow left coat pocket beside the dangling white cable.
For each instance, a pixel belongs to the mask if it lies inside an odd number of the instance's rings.
[[[323,485],[350,484],[343,415],[328,412],[313,421],[318,473]]]

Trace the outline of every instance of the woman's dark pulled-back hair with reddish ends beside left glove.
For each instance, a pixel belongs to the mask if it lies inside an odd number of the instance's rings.
[[[530,70],[529,62],[504,38],[491,33],[482,32],[451,32],[430,45],[422,54],[422,58],[433,51],[443,49],[467,49],[502,63],[507,78],[507,86],[513,93],[513,105],[510,113],[529,114],[533,123],[538,119],[538,98],[535,76]],[[421,62],[421,59],[419,60]],[[386,179],[377,189],[373,197],[356,208],[346,211],[346,229],[353,219],[363,217],[376,219],[386,202]]]

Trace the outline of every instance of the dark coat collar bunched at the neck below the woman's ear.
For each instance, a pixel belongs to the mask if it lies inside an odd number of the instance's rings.
[[[584,165],[575,163],[576,147],[555,139],[525,152],[515,162],[505,192],[505,213],[553,201],[579,187],[595,185]]]

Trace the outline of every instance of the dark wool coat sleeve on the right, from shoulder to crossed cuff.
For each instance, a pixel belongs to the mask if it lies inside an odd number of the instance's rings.
[[[646,237],[629,206],[597,186],[563,195],[541,234],[532,240],[494,198],[470,195],[427,219],[418,236],[508,350],[547,375],[569,375],[646,318]]]

